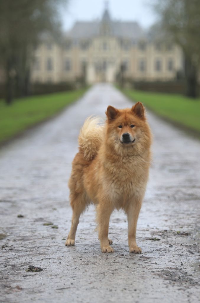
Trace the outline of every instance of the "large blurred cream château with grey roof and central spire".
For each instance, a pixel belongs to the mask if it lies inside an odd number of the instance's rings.
[[[44,38],[35,50],[31,82],[65,82],[85,78],[88,84],[173,80],[182,71],[182,52],[169,40],[163,42],[155,32],[144,31],[137,22],[122,22],[110,17],[105,8],[101,20],[76,22],[55,43]]]

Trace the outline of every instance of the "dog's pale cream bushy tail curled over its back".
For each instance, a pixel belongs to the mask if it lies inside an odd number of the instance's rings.
[[[88,117],[80,130],[78,137],[79,150],[83,152],[84,158],[92,160],[101,146],[103,140],[103,125],[100,118]]]

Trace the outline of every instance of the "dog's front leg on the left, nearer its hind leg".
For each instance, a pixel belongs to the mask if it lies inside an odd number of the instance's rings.
[[[113,253],[113,248],[109,245],[108,229],[110,215],[113,211],[113,206],[107,203],[99,203],[97,205],[97,223],[101,251],[104,253]]]

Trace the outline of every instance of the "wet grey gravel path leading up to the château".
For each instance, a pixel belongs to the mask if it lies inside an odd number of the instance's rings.
[[[154,161],[137,229],[143,253],[129,254],[126,216],[115,212],[114,254],[102,254],[93,206],[80,218],[76,246],[64,246],[78,132],[109,104],[131,102],[110,85],[96,85],[1,148],[0,302],[198,302],[200,142],[150,113]],[[43,271],[26,272],[28,265]]]

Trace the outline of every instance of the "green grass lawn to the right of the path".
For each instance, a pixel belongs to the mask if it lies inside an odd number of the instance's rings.
[[[159,116],[200,133],[200,98],[131,89],[123,89],[122,92],[133,101],[142,102]]]

